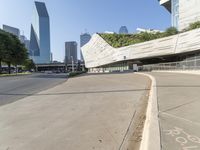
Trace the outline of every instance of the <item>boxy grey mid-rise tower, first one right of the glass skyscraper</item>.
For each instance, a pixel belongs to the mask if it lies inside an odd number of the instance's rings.
[[[65,42],[65,63],[77,63],[77,42]]]

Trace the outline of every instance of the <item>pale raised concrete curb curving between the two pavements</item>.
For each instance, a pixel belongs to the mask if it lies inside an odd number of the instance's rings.
[[[137,74],[146,76],[152,81],[140,150],[161,150],[156,80],[149,74]]]

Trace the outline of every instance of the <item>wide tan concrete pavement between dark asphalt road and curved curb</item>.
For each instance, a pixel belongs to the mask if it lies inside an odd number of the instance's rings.
[[[0,107],[0,150],[119,150],[149,78],[90,75]]]

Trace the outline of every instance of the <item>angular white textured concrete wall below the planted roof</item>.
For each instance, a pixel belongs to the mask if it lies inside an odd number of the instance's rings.
[[[82,47],[87,68],[196,50],[200,50],[200,29],[121,48],[113,48],[101,36],[94,34]]]

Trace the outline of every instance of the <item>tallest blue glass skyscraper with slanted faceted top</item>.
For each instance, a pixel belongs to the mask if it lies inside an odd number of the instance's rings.
[[[30,57],[36,64],[50,63],[50,23],[45,3],[35,2],[30,35]]]

